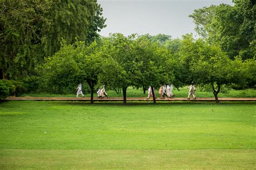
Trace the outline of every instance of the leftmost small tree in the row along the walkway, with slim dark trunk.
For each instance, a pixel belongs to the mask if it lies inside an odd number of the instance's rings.
[[[45,91],[53,93],[72,93],[81,81],[89,84],[91,103],[93,90],[97,84],[98,75],[102,72],[103,58],[96,42],[85,45],[85,42],[76,42],[66,45],[46,59],[42,70],[42,86]]]

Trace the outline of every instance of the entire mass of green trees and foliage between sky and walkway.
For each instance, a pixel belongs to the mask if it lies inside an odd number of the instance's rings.
[[[192,34],[100,37],[105,19],[96,0],[7,1],[1,10],[0,68],[3,78],[19,79],[12,81],[15,92],[6,86],[12,95],[75,93],[82,83],[90,89],[91,103],[102,85],[122,90],[126,103],[130,86],[145,93],[149,86],[178,89],[194,81],[200,90],[210,85],[218,101],[221,87],[255,87],[255,3],[250,0],[194,10],[190,17],[199,39]]]

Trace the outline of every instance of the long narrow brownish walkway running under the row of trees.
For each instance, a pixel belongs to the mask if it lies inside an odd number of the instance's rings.
[[[256,101],[256,98],[218,98],[219,101]],[[8,97],[5,100],[44,100],[44,101],[90,101],[89,97]],[[93,98],[94,101],[123,101],[123,98]],[[153,98],[126,98],[127,101],[153,101]],[[197,98],[194,99],[186,99],[186,98],[173,98],[173,99],[159,99],[156,101],[215,101],[215,98]]]

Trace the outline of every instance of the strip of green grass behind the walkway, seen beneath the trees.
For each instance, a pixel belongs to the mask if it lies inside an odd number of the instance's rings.
[[[157,97],[160,97],[158,94],[158,90],[156,89]],[[174,89],[173,94],[175,94],[178,98],[186,98],[188,95],[188,89],[187,87],[180,88],[179,90]],[[117,94],[115,91],[109,90],[107,91],[107,94],[110,97],[123,97],[123,93]],[[48,93],[29,93],[29,94],[22,94],[22,96],[31,96],[31,97],[76,97],[76,92],[73,94],[48,94]],[[94,94],[95,97],[97,97],[97,94]],[[81,96],[80,96],[81,97]],[[89,93],[85,93],[85,97],[90,97]],[[133,89],[132,87],[129,87],[127,89],[127,97],[147,97],[147,91],[146,94],[143,94],[142,89]],[[199,98],[209,98],[214,97],[212,92],[206,92],[199,90],[196,91],[196,97]],[[247,90],[230,90],[228,93],[219,93],[218,97],[234,97],[234,98],[244,98],[244,97],[256,97],[256,90],[254,89],[247,89]]]

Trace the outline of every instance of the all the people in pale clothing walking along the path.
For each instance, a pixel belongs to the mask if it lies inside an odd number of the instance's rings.
[[[165,96],[167,98],[174,98],[174,94],[172,93],[172,88],[173,88],[173,85],[167,85],[167,86],[160,86],[159,88],[159,91],[158,93],[160,94],[161,96],[161,99],[164,99]],[[82,96],[84,97],[84,94],[82,92],[82,84],[79,83],[78,87],[77,87],[77,97],[79,94],[82,94]],[[196,87],[194,86],[194,83],[192,81],[191,85],[188,87],[189,91],[188,91],[188,96],[187,96],[187,99],[190,99],[190,96],[192,95],[193,96],[193,99],[196,99],[196,94],[195,94],[195,91],[196,91]],[[148,91],[148,96],[147,96],[147,99],[149,99],[151,96],[152,96],[152,88],[151,86],[149,86],[149,89],[147,89]],[[153,91],[154,91],[154,87],[153,87]],[[97,91],[97,94],[98,94],[98,98],[102,99],[104,98],[105,96],[107,98],[109,98],[109,96],[107,96],[107,93],[105,91],[105,85],[103,85],[102,87],[99,88],[99,90]],[[154,92],[154,97],[157,98],[156,96],[156,93]]]

